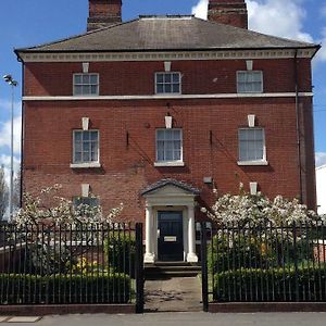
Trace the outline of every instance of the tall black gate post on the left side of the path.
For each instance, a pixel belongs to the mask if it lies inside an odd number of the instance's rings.
[[[136,313],[143,313],[143,249],[142,224],[136,224]]]

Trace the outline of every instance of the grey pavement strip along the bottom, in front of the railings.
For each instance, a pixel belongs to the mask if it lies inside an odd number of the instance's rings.
[[[0,325],[30,326],[29,323]],[[36,326],[325,326],[326,313],[148,313],[143,315],[47,316]]]

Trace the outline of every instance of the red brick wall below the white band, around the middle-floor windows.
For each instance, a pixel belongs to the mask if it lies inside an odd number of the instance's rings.
[[[166,104],[170,103],[170,109]],[[184,130],[185,167],[154,167],[155,129],[164,127],[170,111]],[[237,131],[255,114],[265,128],[268,166],[238,166]],[[100,130],[98,170],[72,170],[72,131],[82,127]],[[143,217],[139,191],[163,177],[185,180],[201,189],[203,203],[213,200],[204,176],[213,176],[221,192],[237,192],[242,181],[258,181],[271,198],[298,197],[299,168],[294,99],[168,100],[168,101],[64,101],[26,102],[24,187],[36,191],[62,184],[62,196],[80,196],[88,183],[108,211],[124,202],[124,220]],[[210,143],[210,130],[213,141]],[[129,134],[127,146],[126,133]],[[310,133],[308,137],[311,137]],[[310,171],[306,180],[311,184]],[[314,202],[313,193],[306,201]]]

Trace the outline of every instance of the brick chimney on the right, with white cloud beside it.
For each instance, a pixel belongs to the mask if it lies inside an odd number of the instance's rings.
[[[209,21],[248,29],[246,0],[210,0]]]

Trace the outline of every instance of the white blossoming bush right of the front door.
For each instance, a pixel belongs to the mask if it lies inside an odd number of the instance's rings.
[[[308,233],[301,228],[299,235],[296,226],[316,226],[321,217],[297,199],[269,200],[240,189],[239,195],[217,197],[211,209],[202,211],[218,228],[209,246],[209,267],[214,273],[272,268],[313,258]]]

